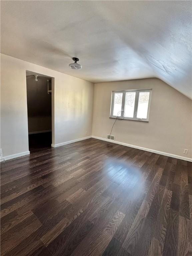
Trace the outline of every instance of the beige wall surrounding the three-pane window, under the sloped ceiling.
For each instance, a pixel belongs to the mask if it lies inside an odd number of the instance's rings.
[[[191,158],[192,101],[156,78],[95,84],[92,135],[107,138],[110,134],[114,123],[109,118],[113,90],[150,88],[149,122],[117,121],[112,135],[119,142]],[[184,149],[189,150],[187,155]]]

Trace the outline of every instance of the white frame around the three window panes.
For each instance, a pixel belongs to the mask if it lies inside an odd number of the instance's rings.
[[[135,92],[135,106],[134,106],[133,117],[123,117],[123,113],[124,113],[124,109],[125,109],[126,92]],[[147,110],[147,118],[137,118],[137,109],[138,109],[139,93],[140,92],[149,92],[149,104],[148,104],[148,110]],[[119,116],[119,118],[123,118],[125,120],[135,120],[135,121],[149,122],[149,112],[150,112],[150,106],[151,106],[152,89],[112,91],[110,118],[117,118],[117,116],[113,116],[115,93],[123,93],[122,106],[121,106],[121,116]]]

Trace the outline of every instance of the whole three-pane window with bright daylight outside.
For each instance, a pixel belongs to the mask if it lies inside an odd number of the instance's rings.
[[[110,117],[149,121],[151,93],[152,89],[113,91]]]

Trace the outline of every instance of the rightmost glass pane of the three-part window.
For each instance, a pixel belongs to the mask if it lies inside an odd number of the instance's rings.
[[[140,92],[137,108],[137,118],[147,118],[150,92]]]

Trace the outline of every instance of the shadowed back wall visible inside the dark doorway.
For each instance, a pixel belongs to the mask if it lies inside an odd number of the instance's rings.
[[[36,82],[35,77],[29,75],[26,80],[28,132],[51,130],[51,94],[47,93],[47,80],[51,90],[51,79],[39,76]]]

